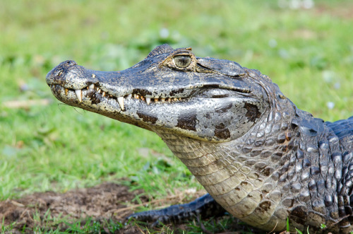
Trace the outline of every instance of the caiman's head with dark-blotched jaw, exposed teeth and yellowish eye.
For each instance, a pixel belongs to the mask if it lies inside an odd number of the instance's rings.
[[[201,141],[237,139],[271,106],[267,76],[169,45],[124,71],[93,71],[66,61],[46,79],[63,103]]]

